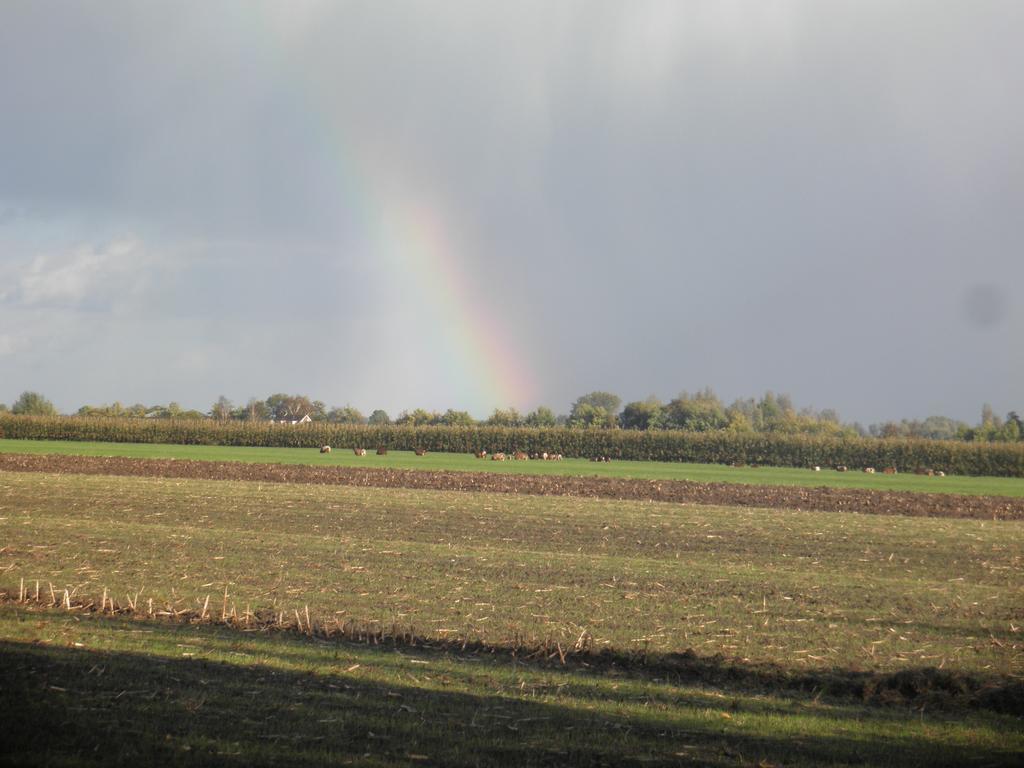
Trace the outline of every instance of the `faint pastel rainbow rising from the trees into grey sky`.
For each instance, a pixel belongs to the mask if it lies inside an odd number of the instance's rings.
[[[262,22],[263,37],[281,49],[273,23]],[[354,240],[366,248],[362,258],[372,260],[385,282],[415,281],[422,309],[432,314],[416,333],[423,334],[436,360],[429,373],[443,376],[451,407],[477,417],[494,408],[534,407],[532,366],[503,328],[514,318],[495,317],[476,298],[486,292],[464,266],[466,249],[451,225],[457,214],[444,204],[440,185],[423,183],[411,169],[387,167],[381,159],[388,153],[375,152],[382,147],[360,146],[330,108],[331,84],[323,81],[324,73],[302,72],[285,56],[281,65],[295,74],[314,127],[324,131],[345,209],[339,218],[355,230]]]

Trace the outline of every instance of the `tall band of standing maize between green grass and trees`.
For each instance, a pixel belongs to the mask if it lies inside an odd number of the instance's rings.
[[[15,439],[164,442],[185,445],[367,447],[432,452],[525,451],[565,457],[777,467],[896,467],[951,474],[1024,477],[1024,443],[874,437],[618,429],[365,426],[313,422],[90,419],[0,415],[0,433]]]

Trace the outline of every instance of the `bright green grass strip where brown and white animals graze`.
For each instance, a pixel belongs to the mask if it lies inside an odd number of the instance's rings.
[[[1020,477],[927,477],[914,474],[869,475],[863,472],[836,472],[823,469],[784,467],[726,467],[717,464],[670,462],[610,462],[583,459],[560,462],[480,461],[462,454],[428,454],[393,451],[379,457],[370,452],[357,457],[337,450],[322,455],[310,449],[241,447],[224,445],[170,445],[160,443],[73,442],[67,440],[0,439],[0,452],[17,454],[60,454],[74,456],[126,456],[141,459],[198,459],[263,464],[308,464],[332,467],[390,467],[393,469],[451,470],[456,472],[513,472],[522,474],[564,474],[574,476],[631,477],[640,479],[693,480],[697,482],[740,482],[746,484],[803,485],[816,487],[873,488],[975,496],[1024,497]]]

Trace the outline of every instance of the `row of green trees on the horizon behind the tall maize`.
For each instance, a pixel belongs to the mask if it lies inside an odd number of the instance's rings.
[[[23,392],[8,409],[0,403],[0,413],[34,416],[56,416],[53,403],[38,392]],[[541,406],[526,414],[514,408],[495,409],[484,420],[474,419],[467,411],[449,409],[440,413],[415,409],[402,411],[394,419],[383,410],[366,416],[351,406],[328,408],[323,401],[302,394],[279,392],[265,399],[251,397],[245,404],[236,404],[227,397],[217,398],[209,411],[183,409],[177,402],[166,406],[83,406],[76,416],[139,419],[213,419],[216,421],[294,422],[308,416],[314,422],[334,424],[368,424],[398,426],[447,427],[569,427],[573,429],[684,430],[688,432],[733,432],[765,434],[807,434],[823,437],[924,437],[965,441],[1024,441],[1024,423],[1016,411],[1000,418],[992,408],[982,408],[976,425],[944,416],[924,420],[903,419],[899,422],[872,424],[867,429],[856,423],[843,423],[839,415],[825,409],[798,410],[786,394],[766,392],[759,398],[736,399],[725,406],[717,394],[706,388],[697,392],[681,392],[663,402],[655,396],[623,406],[622,398],[611,392],[589,392],[577,398],[569,412],[556,415]]]

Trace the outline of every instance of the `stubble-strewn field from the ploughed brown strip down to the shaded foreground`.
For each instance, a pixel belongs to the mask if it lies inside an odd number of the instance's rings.
[[[308,608],[498,648],[584,639],[623,662],[7,603],[7,750],[72,764],[95,746],[136,764],[1009,765],[1019,717],[822,691],[858,673],[1024,674],[1022,561],[1014,522],[0,473],[0,586]],[[628,664],[687,649],[725,672],[698,684]],[[43,722],[61,727],[43,738]]]

